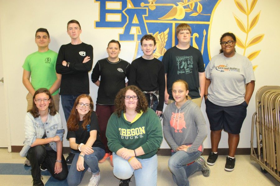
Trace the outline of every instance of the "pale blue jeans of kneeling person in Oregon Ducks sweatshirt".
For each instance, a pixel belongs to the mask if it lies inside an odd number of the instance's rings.
[[[140,159],[142,169],[134,170],[127,160],[113,153],[114,175],[119,179],[128,179],[133,175],[137,186],[156,186],[157,181],[157,155]]]

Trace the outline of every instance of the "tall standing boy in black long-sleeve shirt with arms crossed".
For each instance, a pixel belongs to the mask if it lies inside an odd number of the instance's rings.
[[[66,122],[76,98],[89,94],[88,72],[93,59],[92,46],[80,40],[82,30],[77,20],[68,22],[67,33],[71,43],[60,47],[56,60],[56,72],[62,74],[59,94]],[[66,158],[67,163],[72,163],[73,155]]]

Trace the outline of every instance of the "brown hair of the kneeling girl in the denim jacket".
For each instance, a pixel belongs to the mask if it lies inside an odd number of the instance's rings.
[[[35,96],[37,94],[40,94],[40,93],[45,93],[46,95],[49,96],[49,100],[50,100],[50,103],[49,103],[49,115],[54,116],[56,114],[56,110],[55,110],[55,107],[54,107],[54,104],[53,104],[53,97],[52,97],[51,93],[49,92],[49,90],[46,89],[46,88],[39,88],[37,91],[35,91],[35,93],[33,95],[32,108],[30,110],[28,110],[27,112],[30,112],[31,115],[34,118],[40,116],[39,109],[37,108],[37,106],[35,104]]]

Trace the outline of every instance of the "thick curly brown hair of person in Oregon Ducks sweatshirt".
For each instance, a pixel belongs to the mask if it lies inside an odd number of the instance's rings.
[[[130,85],[130,86],[127,86],[127,87],[121,89],[118,92],[118,94],[116,95],[115,113],[118,115],[118,117],[120,117],[122,111],[125,113],[126,107],[124,104],[124,96],[128,90],[135,92],[138,97],[137,107],[136,107],[135,111],[137,113],[140,113],[141,110],[142,110],[142,112],[147,112],[148,102],[147,102],[146,96],[137,86]]]

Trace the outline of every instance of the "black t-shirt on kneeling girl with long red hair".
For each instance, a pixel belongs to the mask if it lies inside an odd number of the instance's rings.
[[[86,130],[83,129],[82,124],[83,121],[80,121],[79,129],[77,131],[68,131],[66,139],[76,138],[77,144],[81,144],[81,143],[86,144],[88,138],[90,137],[90,131],[96,130],[97,131],[96,140],[93,143],[92,147],[100,147],[105,150],[104,144],[101,142],[99,136],[100,131],[99,131],[99,125],[98,125],[96,113],[94,111],[91,113],[91,122],[86,126]],[[80,152],[79,150],[74,150],[74,151]]]

